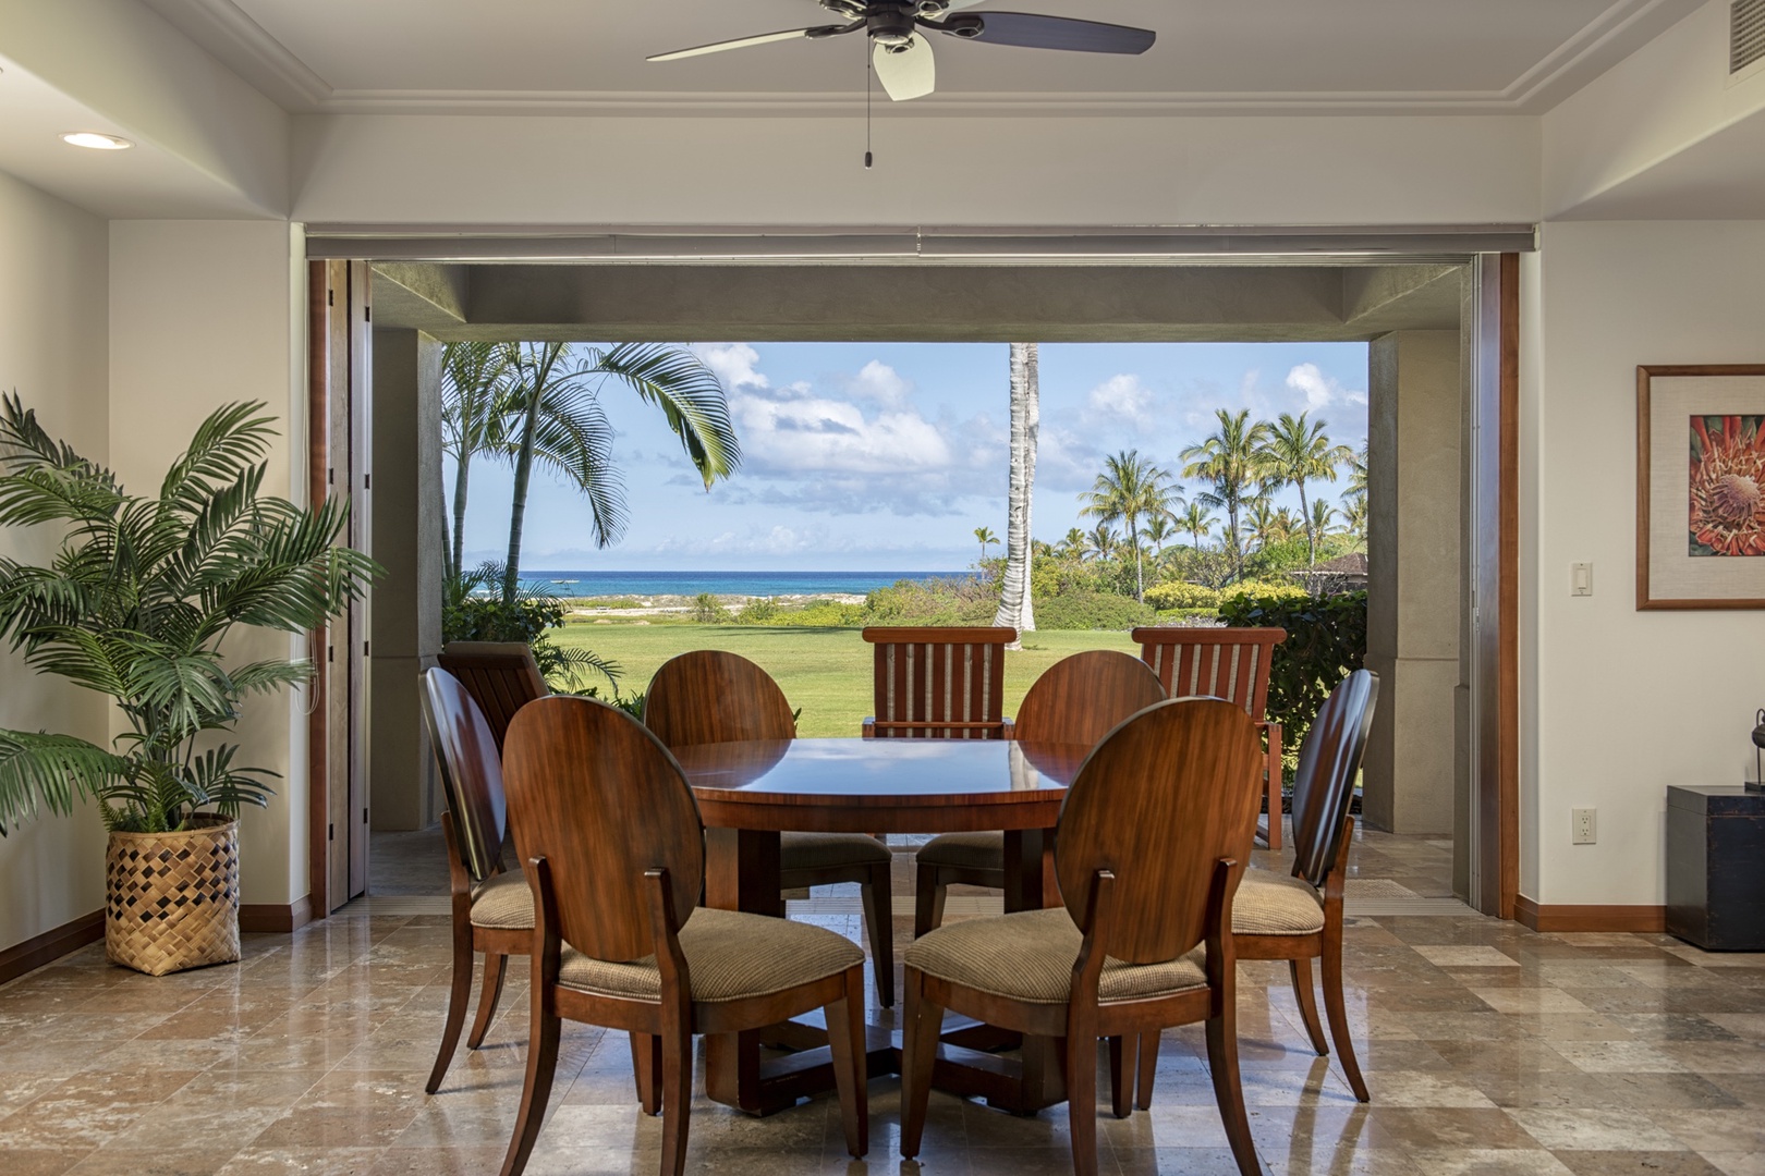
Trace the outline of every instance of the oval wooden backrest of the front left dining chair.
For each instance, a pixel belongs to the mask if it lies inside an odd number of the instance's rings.
[[[544,857],[558,934],[595,959],[657,950],[646,869],[665,869],[676,924],[704,882],[704,825],[680,765],[650,730],[595,698],[521,709],[503,756],[521,860]]]

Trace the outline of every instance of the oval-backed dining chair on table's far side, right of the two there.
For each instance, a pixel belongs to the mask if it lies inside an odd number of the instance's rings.
[[[1091,748],[1128,716],[1163,700],[1165,689],[1144,661],[1089,649],[1055,661],[1031,684],[1013,739]],[[1004,887],[1004,834],[939,834],[920,846],[916,873],[913,933],[920,936],[944,922],[944,894],[953,883]]]

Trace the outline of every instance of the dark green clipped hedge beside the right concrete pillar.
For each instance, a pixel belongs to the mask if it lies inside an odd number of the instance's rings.
[[[1287,629],[1287,640],[1269,659],[1269,718],[1281,725],[1285,748],[1297,753],[1336,682],[1366,663],[1366,591],[1336,596],[1244,592],[1228,596],[1220,615],[1237,628]]]

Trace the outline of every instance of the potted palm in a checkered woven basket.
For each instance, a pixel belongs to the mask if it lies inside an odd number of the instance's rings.
[[[263,407],[215,409],[146,497],[0,397],[0,525],[64,531],[48,566],[0,559],[0,636],[39,674],[115,698],[124,728],[108,748],[0,730],[0,836],[95,800],[106,954],[152,975],[238,959],[238,813],[268,804],[275,774],[240,765],[228,733],[247,696],[312,674],[228,658],[228,636],[314,629],[376,573],[335,547],[344,501],[263,494]]]

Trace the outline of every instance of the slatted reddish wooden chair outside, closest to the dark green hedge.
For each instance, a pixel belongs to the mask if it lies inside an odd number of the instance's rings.
[[[1257,836],[1281,848],[1281,725],[1269,721],[1269,665],[1287,629],[1154,626],[1133,631],[1140,658],[1172,698],[1205,695],[1244,707],[1262,730],[1269,756],[1264,769],[1267,823]]]

